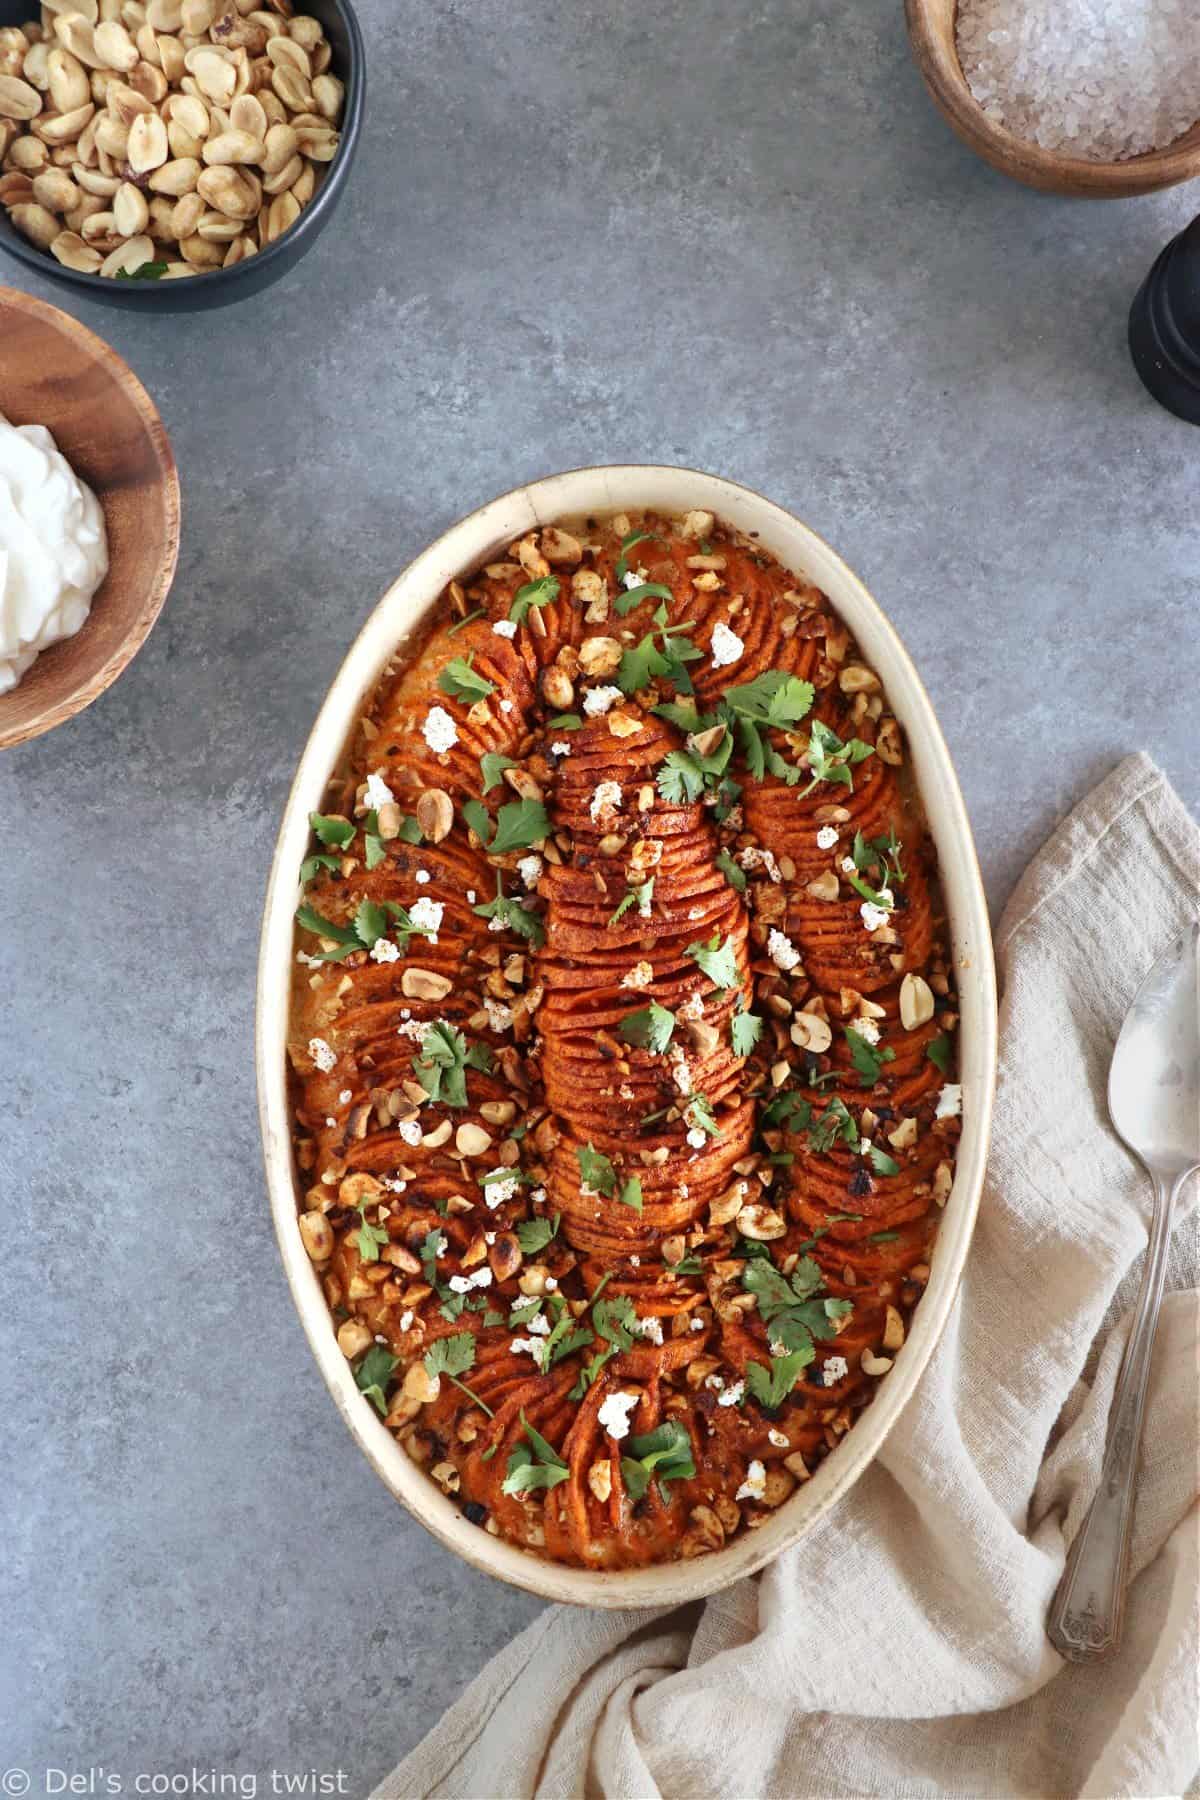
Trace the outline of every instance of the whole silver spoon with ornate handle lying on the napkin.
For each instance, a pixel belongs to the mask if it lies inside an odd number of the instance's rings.
[[[1108,1417],[1099,1490],[1070,1546],[1045,1629],[1060,1656],[1087,1663],[1121,1642],[1137,1453],[1171,1215],[1200,1166],[1200,925],[1153,965],[1124,1015],[1108,1071],[1108,1114],[1155,1186],[1146,1273]]]

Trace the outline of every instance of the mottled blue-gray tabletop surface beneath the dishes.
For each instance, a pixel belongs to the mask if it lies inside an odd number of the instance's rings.
[[[905,635],[997,905],[1121,752],[1200,803],[1200,434],[1123,342],[1187,193],[988,171],[900,0],[360,11],[360,164],[284,284],[162,320],[36,284],[155,394],[185,540],[133,668],[0,758],[0,1764],[32,1793],[95,1766],[362,1793],[536,1611],[353,1447],[259,1170],[275,821],[428,538],[599,461],[795,508]]]

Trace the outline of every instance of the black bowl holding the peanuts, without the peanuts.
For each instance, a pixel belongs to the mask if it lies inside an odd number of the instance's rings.
[[[20,25],[38,9],[34,0],[0,0],[0,25]],[[317,193],[300,212],[291,230],[277,238],[266,250],[234,263],[232,268],[216,268],[205,275],[180,277],[178,281],[112,281],[104,275],[79,275],[74,268],[63,268],[49,250],[38,250],[14,229],[4,207],[0,207],[0,250],[7,250],[18,263],[25,263],[34,274],[58,281],[65,288],[76,288],[104,306],[130,306],[142,311],[194,313],[212,306],[228,306],[248,293],[268,288],[279,281],[293,263],[299,263],[306,250],[313,247],[320,232],[333,218],[333,209],[345,191],[354,151],[362,135],[362,115],[365,97],[363,41],[351,0],[297,0],[297,13],[309,13],[324,25],[326,38],[333,49],[331,72],[345,83],[345,110],[342,113],[342,142],[338,153],[326,166],[326,175],[318,182]]]

